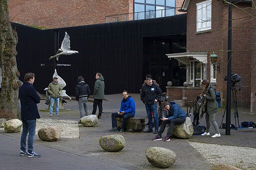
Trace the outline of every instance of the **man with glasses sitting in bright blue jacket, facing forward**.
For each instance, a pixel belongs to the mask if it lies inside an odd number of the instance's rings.
[[[135,102],[128,95],[128,92],[124,90],[122,92],[123,99],[121,100],[121,106],[119,112],[112,113],[112,129],[108,130],[108,132],[117,132],[116,126],[116,117],[122,117],[122,126],[120,132],[124,132],[124,127],[129,118],[133,118],[135,116]]]

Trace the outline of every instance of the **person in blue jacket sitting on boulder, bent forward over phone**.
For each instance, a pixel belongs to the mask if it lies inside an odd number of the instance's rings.
[[[158,135],[152,139],[153,141],[162,140],[161,135],[167,124],[169,124],[169,131],[167,132],[167,136],[163,139],[163,141],[170,141],[170,136],[174,125],[181,125],[186,120],[185,112],[176,104],[176,102],[163,102],[163,108],[168,114],[166,114],[166,118],[160,118],[162,125]]]

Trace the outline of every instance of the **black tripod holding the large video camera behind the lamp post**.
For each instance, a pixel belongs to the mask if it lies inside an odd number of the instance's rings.
[[[236,88],[235,88],[235,85],[236,85],[235,83],[232,83],[232,84],[231,84],[232,99],[233,99],[232,104],[233,104],[233,109],[234,109],[234,127],[231,126],[230,128],[231,128],[231,129],[234,129],[234,130],[237,129],[237,126],[236,126],[236,119],[237,119],[238,128],[240,127],[240,125],[239,125],[239,120],[238,120],[239,115],[238,115],[238,109],[237,109],[237,100],[236,100],[236,92],[237,92],[237,90],[236,90]],[[240,88],[239,88],[239,90],[240,90]],[[221,125],[222,125],[222,122],[223,122],[223,118],[224,118],[225,112],[226,112],[226,108],[225,108],[225,110],[224,110],[224,114],[223,114],[223,116],[222,116],[222,120],[221,120],[221,124],[220,124],[219,128],[221,128]],[[230,125],[231,125],[231,123],[230,123]],[[222,127],[222,128],[223,128],[223,127]]]

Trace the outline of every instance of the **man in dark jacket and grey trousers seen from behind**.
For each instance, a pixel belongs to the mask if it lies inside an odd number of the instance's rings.
[[[89,115],[87,100],[90,94],[90,88],[83,80],[83,77],[79,76],[77,79],[78,84],[75,86],[75,99],[78,101],[80,118],[84,116],[84,112],[86,116]]]

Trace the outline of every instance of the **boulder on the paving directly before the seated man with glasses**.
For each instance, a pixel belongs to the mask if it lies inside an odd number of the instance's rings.
[[[118,152],[125,147],[125,139],[121,135],[108,135],[99,139],[100,147],[107,152]]]

